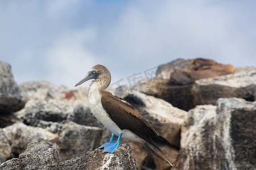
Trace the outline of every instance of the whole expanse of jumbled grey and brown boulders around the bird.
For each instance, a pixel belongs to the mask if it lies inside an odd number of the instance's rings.
[[[159,134],[174,167],[138,143],[114,154],[95,150],[110,132],[88,107],[87,87],[17,84],[0,61],[0,169],[255,169],[256,68],[208,59],[176,59],[155,78],[114,91]],[[132,151],[132,152],[131,152]]]

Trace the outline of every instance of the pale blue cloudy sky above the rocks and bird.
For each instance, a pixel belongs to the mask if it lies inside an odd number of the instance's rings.
[[[98,63],[121,84],[176,58],[256,66],[255,8],[256,1],[0,1],[0,60],[18,83],[70,88]]]

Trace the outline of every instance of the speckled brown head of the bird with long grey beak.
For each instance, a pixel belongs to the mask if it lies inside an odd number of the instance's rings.
[[[80,80],[80,82],[76,83],[75,87],[90,79],[100,82],[102,88],[107,88],[111,81],[111,75],[105,66],[95,65],[89,70],[85,77]]]

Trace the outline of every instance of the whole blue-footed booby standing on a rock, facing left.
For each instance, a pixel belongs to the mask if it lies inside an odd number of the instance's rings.
[[[177,150],[179,147],[160,136],[133,105],[106,90],[111,81],[109,70],[102,65],[93,66],[75,86],[90,79],[94,80],[90,83],[88,90],[89,108],[93,115],[112,132],[110,141],[99,148],[104,148],[104,152],[113,153],[118,148],[122,137],[129,141],[142,143],[147,150],[172,165],[164,158],[155,142],[164,143]],[[114,135],[118,136],[116,142],[113,141]]]

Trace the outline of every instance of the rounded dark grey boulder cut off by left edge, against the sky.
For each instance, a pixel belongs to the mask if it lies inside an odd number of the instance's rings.
[[[19,111],[26,101],[27,96],[15,82],[11,66],[0,61],[0,113]]]

